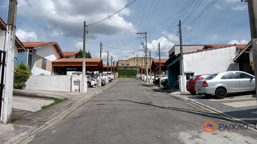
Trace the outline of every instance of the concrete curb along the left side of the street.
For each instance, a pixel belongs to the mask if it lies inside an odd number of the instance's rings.
[[[77,102],[73,105],[71,105],[69,108],[67,108],[66,110],[63,110],[62,112],[60,112],[58,115],[52,117],[51,119],[49,119],[48,121],[46,121],[43,125],[40,125],[38,128],[36,128],[36,130],[32,131],[31,133],[27,134],[27,135],[24,135],[22,136],[22,139],[17,141],[17,142],[11,142],[13,144],[18,144],[18,143],[21,143],[22,141],[26,140],[27,138],[29,138],[31,135],[34,135],[35,133],[37,133],[39,130],[41,130],[42,128],[44,128],[45,126],[47,126],[49,123],[53,122],[54,120],[56,120],[58,117],[64,115],[66,112],[68,112],[69,110],[71,110],[72,108],[78,106],[80,107],[81,105],[79,104],[84,104],[86,102],[88,102],[89,100],[91,100],[92,98],[94,98],[95,96],[97,96],[98,94],[100,94],[100,92],[103,92],[104,90],[108,89],[110,86],[114,85],[117,81],[119,80],[119,78],[114,82],[112,83],[111,85],[109,85],[108,87],[105,87],[101,90],[99,90],[98,92],[96,92],[95,94],[91,94],[89,97],[87,98],[84,98],[82,100],[77,100]],[[10,142],[7,142],[7,143],[10,143]]]

